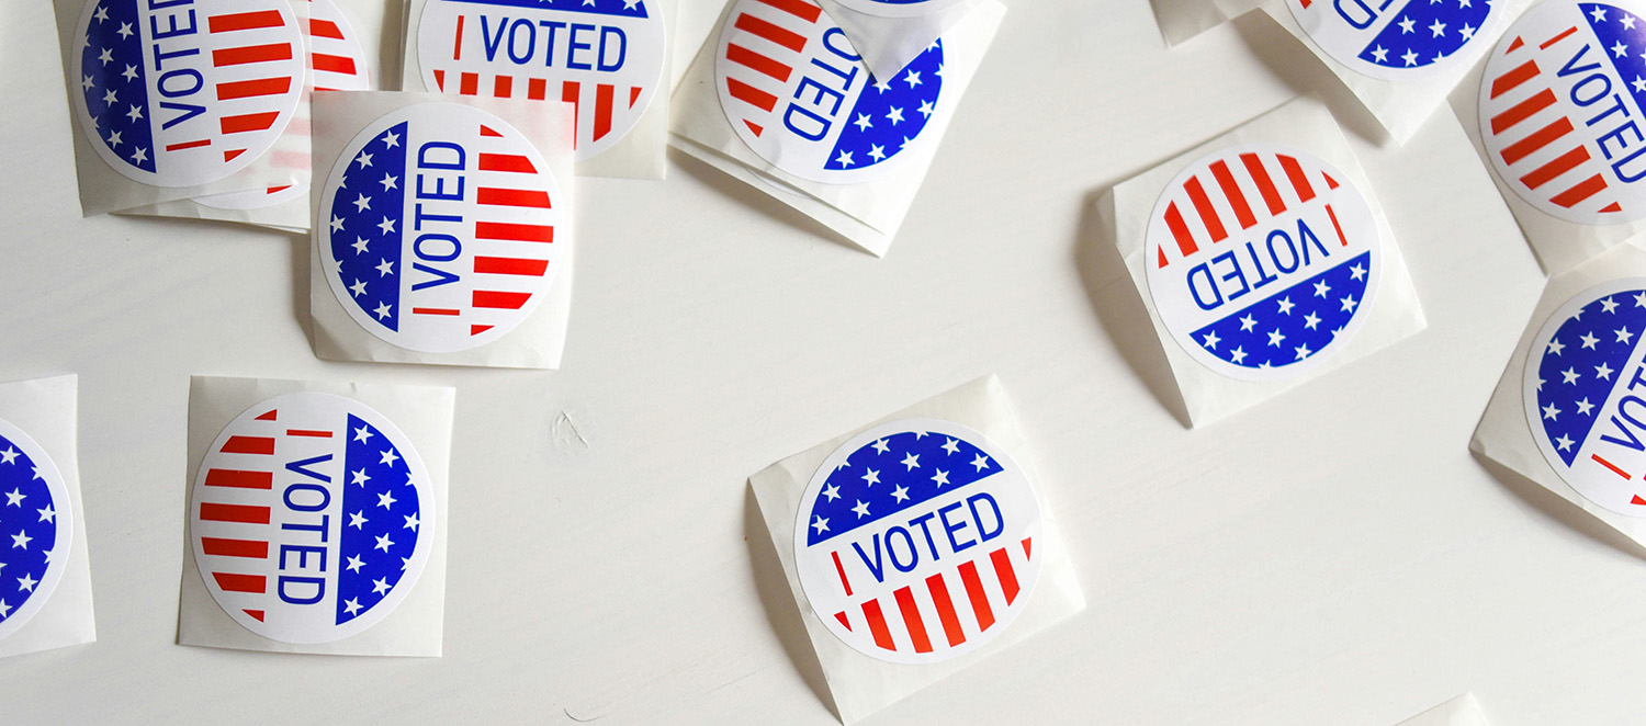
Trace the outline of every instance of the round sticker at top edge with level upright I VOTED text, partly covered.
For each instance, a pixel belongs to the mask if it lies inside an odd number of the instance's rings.
[[[617,143],[663,84],[658,0],[430,0],[418,28],[423,86],[576,107],[576,158]]]

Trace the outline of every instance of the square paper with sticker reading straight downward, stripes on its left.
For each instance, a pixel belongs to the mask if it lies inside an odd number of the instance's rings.
[[[178,640],[439,655],[451,405],[451,389],[194,379]]]

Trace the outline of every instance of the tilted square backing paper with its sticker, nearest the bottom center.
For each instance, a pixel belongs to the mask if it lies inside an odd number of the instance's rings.
[[[749,477],[844,723],[1085,607],[994,377]]]

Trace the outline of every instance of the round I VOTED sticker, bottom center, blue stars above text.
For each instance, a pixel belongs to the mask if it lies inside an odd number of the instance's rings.
[[[825,459],[800,504],[795,568],[848,645],[932,663],[1022,612],[1040,576],[1040,527],[1027,472],[1004,449],[951,421],[909,418]]]

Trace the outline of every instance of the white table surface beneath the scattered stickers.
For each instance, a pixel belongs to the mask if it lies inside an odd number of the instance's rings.
[[[82,219],[48,5],[0,3],[0,379],[81,375],[99,640],[0,662],[3,723],[833,723],[746,477],[988,372],[1090,607],[867,723],[1646,721],[1646,555],[1467,451],[1542,275],[1450,110],[1356,143],[1429,329],[1172,413],[1090,201],[1299,92],[1374,135],[1266,20],[1017,0],[884,260],[678,155],[589,179],[565,369],[517,372],[316,361],[306,239]],[[191,374],[458,387],[443,659],[173,644]]]

